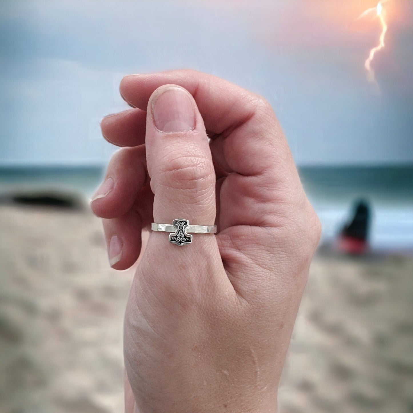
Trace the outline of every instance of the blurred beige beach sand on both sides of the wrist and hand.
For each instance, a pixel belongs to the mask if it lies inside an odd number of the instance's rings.
[[[0,206],[0,411],[123,411],[133,270],[109,267],[88,211]],[[413,261],[318,254],[279,412],[413,412]]]

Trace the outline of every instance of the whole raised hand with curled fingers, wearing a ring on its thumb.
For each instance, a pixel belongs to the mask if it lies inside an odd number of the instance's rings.
[[[120,91],[134,109],[102,121],[124,147],[92,202],[113,268],[136,261],[151,222],[218,226],[182,247],[150,234],[125,316],[126,411],[274,412],[320,234],[275,114],[195,71]]]

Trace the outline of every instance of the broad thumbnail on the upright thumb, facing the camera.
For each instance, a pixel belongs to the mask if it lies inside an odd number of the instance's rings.
[[[162,132],[192,131],[195,110],[189,93],[177,87],[163,90],[152,102],[155,126]]]

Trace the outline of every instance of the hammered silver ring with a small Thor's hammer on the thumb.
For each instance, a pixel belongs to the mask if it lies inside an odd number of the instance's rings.
[[[178,218],[174,219],[171,224],[157,224],[152,222],[152,231],[170,232],[169,242],[176,245],[185,245],[192,242],[192,235],[194,234],[215,234],[216,225],[189,225],[188,219]]]

